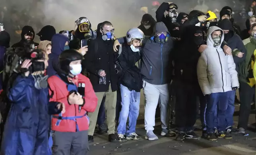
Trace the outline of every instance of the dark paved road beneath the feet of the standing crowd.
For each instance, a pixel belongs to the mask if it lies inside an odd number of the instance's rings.
[[[89,155],[256,155],[256,134],[253,131],[255,125],[252,124],[255,122],[255,114],[250,115],[249,136],[233,135],[231,140],[218,139],[213,142],[205,139],[178,142],[174,137],[160,136],[160,119],[157,119],[155,133],[159,140],[149,141],[144,138],[144,104],[140,107],[136,130],[142,140],[110,143],[107,141],[107,134],[95,134],[95,142],[90,144]],[[239,111],[239,106],[236,106],[236,111]],[[237,126],[238,116],[234,116],[234,121],[234,126]],[[200,125],[197,120],[196,133],[201,135]]]

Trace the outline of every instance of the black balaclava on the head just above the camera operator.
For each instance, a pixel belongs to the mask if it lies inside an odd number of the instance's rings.
[[[54,34],[56,34],[55,28],[51,25],[46,25],[37,33],[37,36],[40,37],[41,41],[44,41],[44,40],[51,41],[52,36]]]

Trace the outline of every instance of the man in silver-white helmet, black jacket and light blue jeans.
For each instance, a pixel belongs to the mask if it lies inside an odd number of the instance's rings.
[[[137,118],[140,109],[140,89],[142,89],[142,76],[139,68],[135,65],[140,60],[140,47],[144,33],[139,28],[131,28],[126,34],[127,43],[122,44],[119,49],[118,64],[120,64],[120,91],[121,104],[117,134],[118,140],[139,140],[140,137],[135,132]],[[122,50],[122,52],[120,52]],[[128,130],[126,121],[129,117]]]

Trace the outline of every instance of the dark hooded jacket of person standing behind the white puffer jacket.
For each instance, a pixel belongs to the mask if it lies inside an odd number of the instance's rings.
[[[242,42],[241,38],[239,35],[237,35],[234,30],[231,21],[229,19],[223,19],[218,22],[219,28],[222,30],[229,30],[229,33],[224,34],[224,40],[227,42],[229,47],[232,49],[233,53],[233,59],[236,64],[236,70],[239,72],[238,64],[245,60],[246,57],[246,49],[244,47],[244,43]],[[236,56],[237,52],[242,52],[244,53],[242,58],[239,58]]]

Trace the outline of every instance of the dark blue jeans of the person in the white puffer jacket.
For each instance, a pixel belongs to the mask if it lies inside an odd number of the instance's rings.
[[[206,107],[206,130],[208,133],[215,132],[215,111],[217,107],[217,129],[225,131],[226,128],[226,115],[229,96],[232,91],[225,93],[212,93],[207,96]]]

